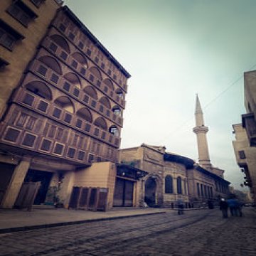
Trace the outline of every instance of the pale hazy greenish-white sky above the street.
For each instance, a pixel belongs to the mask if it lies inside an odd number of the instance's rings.
[[[243,73],[256,69],[255,0],[65,0],[132,75],[122,148],[142,143],[197,160],[201,100],[214,166],[240,188],[232,124],[241,122]]]

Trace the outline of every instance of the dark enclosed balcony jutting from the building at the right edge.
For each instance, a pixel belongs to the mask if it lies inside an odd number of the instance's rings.
[[[242,127],[246,129],[250,146],[256,146],[256,121],[253,113],[242,114]]]

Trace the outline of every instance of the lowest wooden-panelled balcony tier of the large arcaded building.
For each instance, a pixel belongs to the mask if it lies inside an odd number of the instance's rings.
[[[101,129],[93,125],[91,129],[102,137]],[[11,105],[4,122],[0,123],[0,131],[0,142],[13,149],[19,148],[21,154],[33,151],[31,154],[55,156],[78,164],[88,165],[91,162],[89,137],[18,105]],[[112,134],[105,133],[105,140],[113,140],[114,143],[114,139]],[[109,156],[104,149],[101,146],[101,150],[93,154],[95,159],[115,161],[116,154]],[[113,147],[112,150],[116,151]]]

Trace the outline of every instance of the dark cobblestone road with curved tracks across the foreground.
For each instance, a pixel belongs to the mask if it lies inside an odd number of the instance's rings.
[[[169,211],[3,234],[0,255],[256,255],[256,211],[228,219],[219,210]]]

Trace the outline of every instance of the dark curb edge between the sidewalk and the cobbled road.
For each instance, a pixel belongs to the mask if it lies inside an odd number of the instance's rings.
[[[117,220],[122,218],[132,218],[132,217],[155,215],[155,214],[162,214],[162,213],[166,213],[166,212],[163,211],[159,213],[142,213],[142,214],[125,215],[125,216],[113,216],[108,218],[96,218],[96,219],[89,219],[89,220],[75,220],[75,221],[68,221],[63,223],[31,225],[31,226],[23,226],[23,227],[17,227],[17,228],[2,228],[0,229],[0,234],[14,233],[14,232],[28,231],[28,230],[37,230],[41,228],[54,228],[54,227],[60,227],[60,226],[66,226],[66,225],[78,225],[83,223],[92,223],[92,222],[104,221],[104,220]]]

